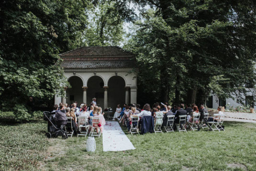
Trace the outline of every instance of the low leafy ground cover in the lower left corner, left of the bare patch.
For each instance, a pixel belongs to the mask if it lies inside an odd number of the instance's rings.
[[[0,123],[0,170],[37,170],[46,157],[49,142],[46,122]]]

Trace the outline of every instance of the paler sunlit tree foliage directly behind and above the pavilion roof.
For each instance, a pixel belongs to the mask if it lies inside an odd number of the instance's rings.
[[[123,13],[118,2],[99,1],[90,8],[89,25],[82,38],[86,46],[119,46],[123,41]]]

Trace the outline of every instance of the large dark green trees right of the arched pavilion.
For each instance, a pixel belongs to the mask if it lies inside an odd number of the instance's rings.
[[[205,103],[210,92],[242,100],[245,82],[255,82],[252,1],[135,2],[154,7],[125,46],[137,55],[139,89],[157,90],[164,101]]]

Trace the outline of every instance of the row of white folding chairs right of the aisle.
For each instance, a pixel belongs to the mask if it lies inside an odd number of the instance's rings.
[[[199,127],[202,128],[203,130],[207,129],[207,130],[219,131],[219,132],[221,130],[225,131],[222,127],[224,116],[225,116],[224,114],[214,114],[214,117],[218,119],[216,121],[207,122],[209,118],[209,114],[206,113],[202,122],[199,122],[200,114],[195,114],[192,122],[187,122],[187,115],[180,115],[179,123],[174,123],[175,115],[168,115],[167,126],[165,127],[164,131],[167,133],[174,132],[174,129],[173,129],[174,124],[176,125],[177,130],[179,132],[187,132],[187,129],[191,131],[197,131]],[[139,118],[134,116],[131,116],[131,118],[132,118],[132,122],[131,122],[130,133],[133,135],[133,134],[139,133],[138,132]],[[133,124],[134,122],[137,122],[137,124]],[[163,124],[163,116],[158,117],[156,119],[156,123],[161,123],[161,124],[155,124],[155,127],[154,127],[155,133],[163,133],[163,131],[161,130],[161,127]]]

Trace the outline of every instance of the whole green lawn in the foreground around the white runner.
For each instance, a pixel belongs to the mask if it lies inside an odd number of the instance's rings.
[[[47,139],[45,122],[0,126],[1,170],[256,170],[256,124],[224,122],[225,132],[127,137],[133,151],[86,152],[86,139]],[[125,129],[124,129],[125,130]],[[14,167],[15,166],[15,167]]]

